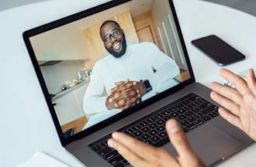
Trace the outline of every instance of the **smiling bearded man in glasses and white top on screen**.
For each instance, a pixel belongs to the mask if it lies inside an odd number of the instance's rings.
[[[111,20],[102,23],[100,36],[109,55],[92,70],[86,114],[123,111],[178,83],[173,79],[180,72],[177,64],[153,43],[127,46],[123,29]]]

